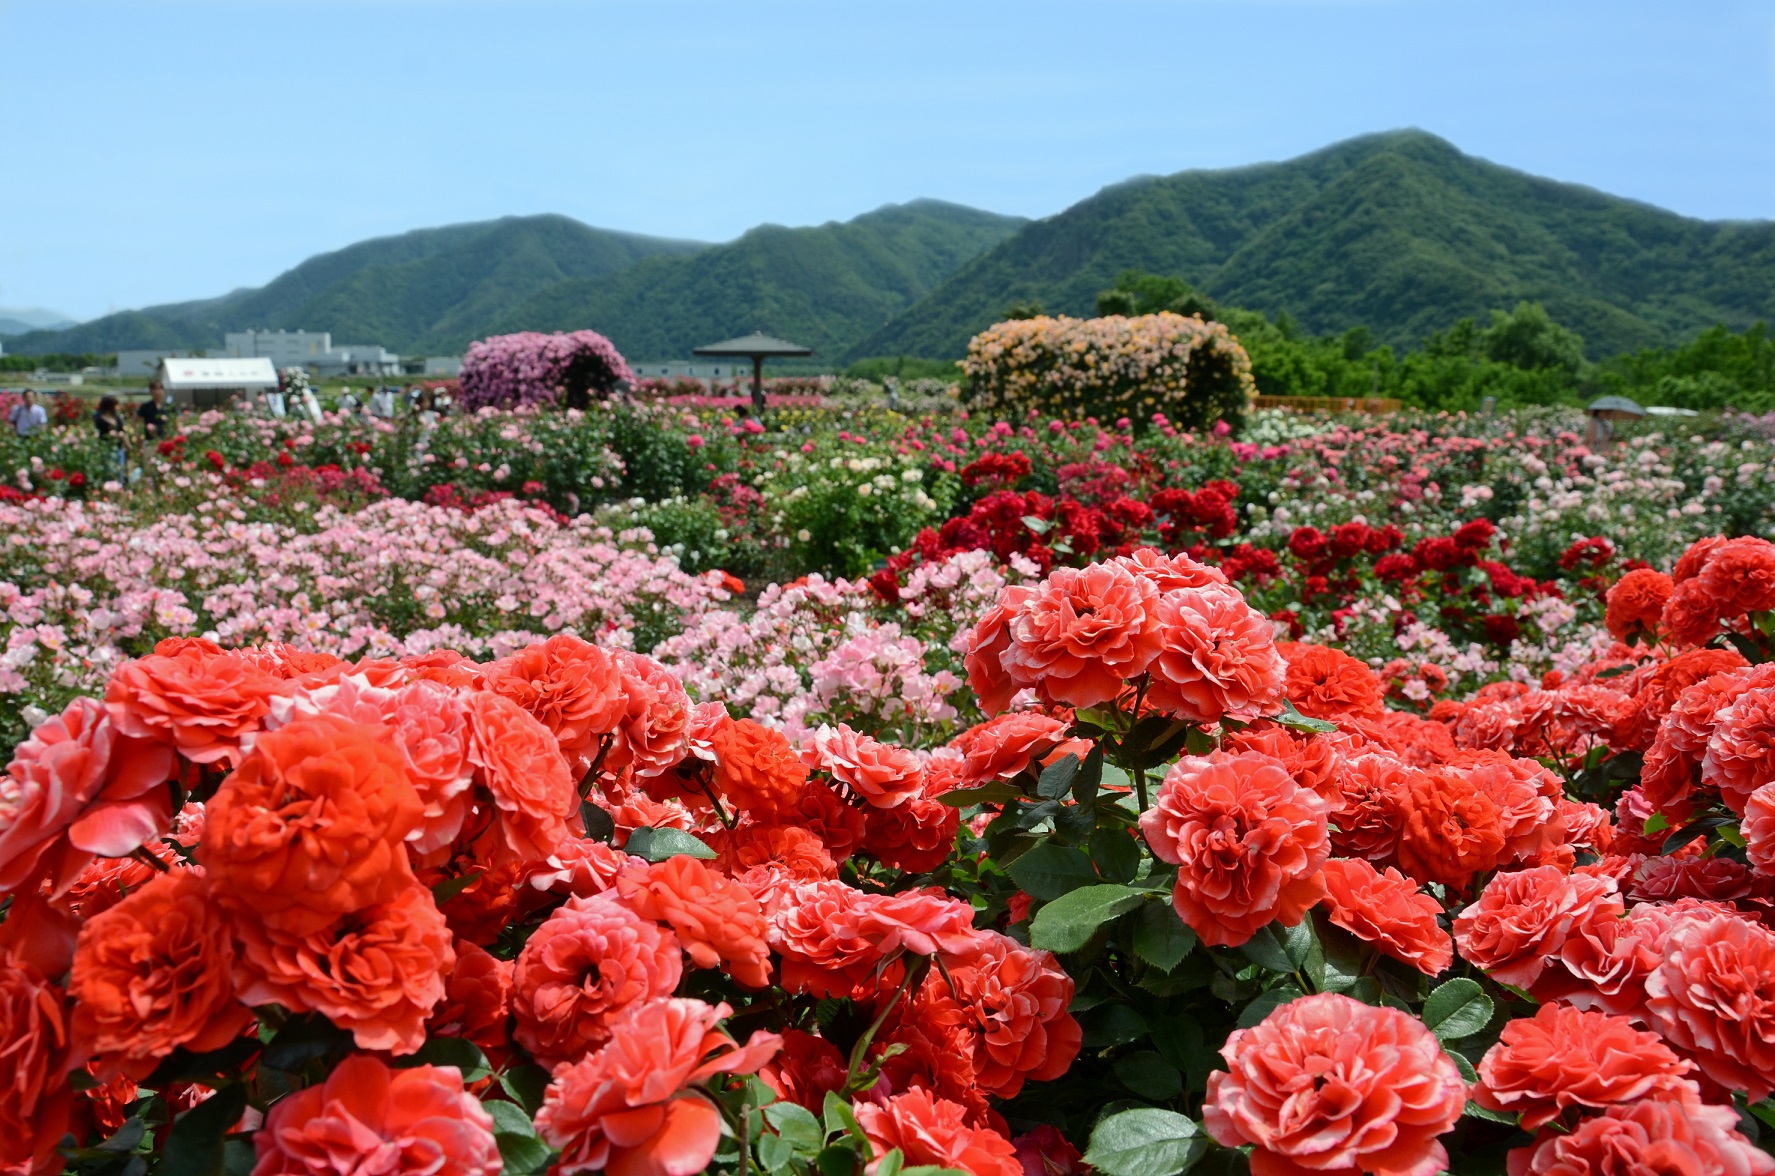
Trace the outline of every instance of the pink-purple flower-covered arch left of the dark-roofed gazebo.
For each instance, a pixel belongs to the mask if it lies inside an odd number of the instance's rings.
[[[493,335],[469,344],[462,360],[467,408],[557,403],[584,408],[634,380],[616,344],[595,330]]]

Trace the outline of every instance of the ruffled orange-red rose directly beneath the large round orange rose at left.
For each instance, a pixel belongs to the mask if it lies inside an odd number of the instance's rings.
[[[240,922],[234,984],[247,1004],[321,1013],[362,1050],[412,1054],[456,965],[431,890],[408,885],[387,903],[309,935]]]

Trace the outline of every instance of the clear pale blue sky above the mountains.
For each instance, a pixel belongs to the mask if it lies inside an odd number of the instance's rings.
[[[1775,0],[0,0],[0,307],[91,318],[508,213],[730,239],[1420,126],[1775,216]]]

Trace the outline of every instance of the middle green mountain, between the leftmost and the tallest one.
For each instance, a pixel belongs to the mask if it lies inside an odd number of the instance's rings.
[[[499,328],[589,326],[641,360],[687,357],[699,344],[761,330],[831,362],[1024,223],[912,200],[813,229],[760,225],[689,257],[650,257],[611,278],[561,282],[515,305]]]

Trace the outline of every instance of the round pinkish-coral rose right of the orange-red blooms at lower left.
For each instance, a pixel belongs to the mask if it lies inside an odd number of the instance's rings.
[[[669,995],[683,974],[678,937],[609,892],[573,898],[531,935],[511,972],[518,1043],[545,1066],[611,1039],[612,1020]]]

